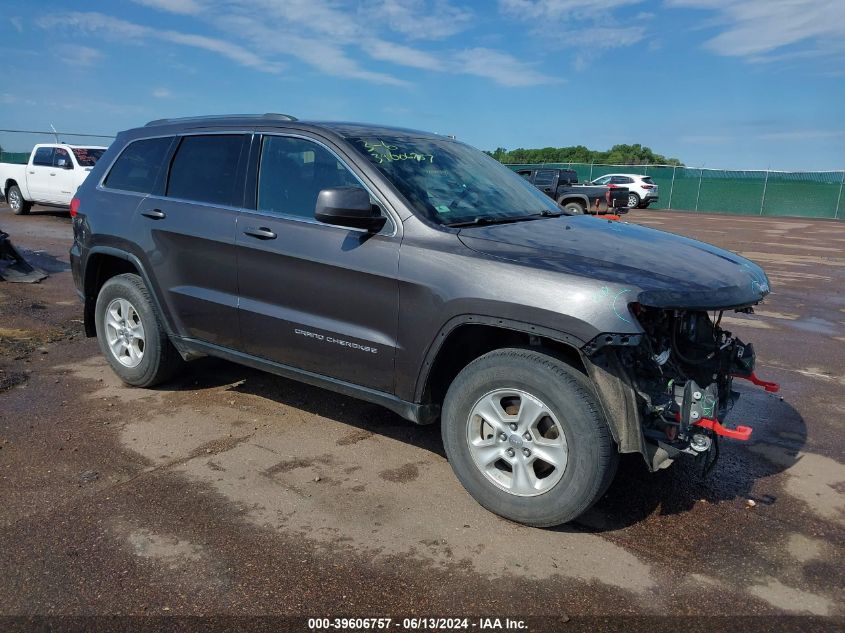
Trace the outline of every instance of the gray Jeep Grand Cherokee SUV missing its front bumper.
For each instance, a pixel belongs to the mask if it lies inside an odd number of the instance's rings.
[[[619,453],[707,465],[751,431],[722,423],[732,380],[761,381],[720,318],[769,292],[757,265],[567,215],[449,138],[153,121],[71,212],[85,329],[125,383],[211,355],[439,422],[466,490],[514,521],[574,519]]]

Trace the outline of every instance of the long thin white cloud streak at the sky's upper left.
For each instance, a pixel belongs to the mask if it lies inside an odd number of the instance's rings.
[[[255,53],[225,40],[180,33],[179,31],[161,31],[113,18],[102,13],[61,13],[46,15],[38,20],[42,28],[76,28],[86,33],[97,33],[102,37],[120,42],[138,42],[139,40],[163,40],[174,44],[192,46],[218,53],[242,66],[275,73],[282,68],[277,62],[265,60]]]

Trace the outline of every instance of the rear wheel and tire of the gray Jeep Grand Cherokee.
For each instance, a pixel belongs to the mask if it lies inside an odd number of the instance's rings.
[[[114,372],[127,385],[152,387],[182,364],[138,275],[112,277],[100,289],[95,307],[97,341]]]

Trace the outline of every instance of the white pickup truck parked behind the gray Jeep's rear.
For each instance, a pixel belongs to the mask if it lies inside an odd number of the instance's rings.
[[[67,207],[105,147],[36,145],[26,165],[0,163],[0,193],[18,215],[33,204]]]

